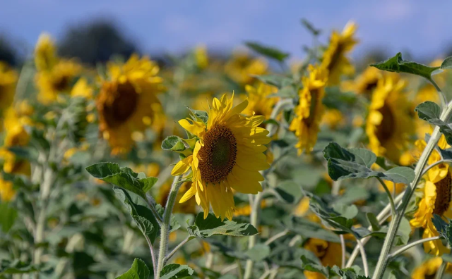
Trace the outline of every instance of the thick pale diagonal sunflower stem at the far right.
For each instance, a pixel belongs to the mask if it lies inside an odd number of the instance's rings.
[[[451,115],[452,115],[452,102],[450,104],[448,104],[446,110],[441,112],[441,116],[439,116],[439,119],[442,121],[446,121],[451,117]],[[427,142],[427,146],[425,147],[424,151],[422,152],[419,162],[416,165],[415,179],[411,182],[410,187],[408,187],[407,190],[405,191],[405,194],[402,199],[402,203],[398,206],[398,213],[397,213],[396,217],[392,219],[392,221],[389,225],[388,233],[384,240],[383,248],[381,249],[381,253],[379,256],[379,261],[376,263],[374,275],[372,277],[373,279],[383,278],[384,271],[386,270],[386,266],[388,265],[388,261],[390,259],[388,257],[388,255],[389,255],[389,252],[391,252],[394,238],[396,237],[396,234],[398,232],[400,222],[402,221],[403,216],[405,215],[405,209],[407,208],[408,204],[410,203],[412,194],[416,190],[417,183],[422,178],[422,173],[423,173],[424,167],[427,164],[427,161],[430,157],[430,154],[432,154],[432,151],[436,147],[436,144],[438,144],[440,138],[441,138],[441,132],[439,131],[439,127],[436,126],[432,133],[432,137],[430,137],[429,142]]]

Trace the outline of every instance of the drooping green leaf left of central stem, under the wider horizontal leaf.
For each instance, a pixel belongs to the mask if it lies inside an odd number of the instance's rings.
[[[141,233],[145,237],[148,237],[151,243],[154,243],[160,227],[153,212],[147,206],[133,201],[131,194],[126,190],[119,187],[114,187],[113,190],[121,202],[124,202],[136,225],[141,230]]]

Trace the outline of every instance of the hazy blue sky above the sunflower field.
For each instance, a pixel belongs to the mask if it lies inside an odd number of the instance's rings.
[[[410,51],[417,57],[441,56],[452,45],[452,1],[290,1],[290,0],[14,0],[0,10],[0,32],[16,42],[35,44],[40,32],[61,37],[69,25],[103,17],[114,20],[128,37],[151,53],[184,51],[203,43],[230,50],[245,40],[278,46],[302,58],[309,33],[307,18],[324,32],[359,25],[355,56],[371,48],[388,54]]]

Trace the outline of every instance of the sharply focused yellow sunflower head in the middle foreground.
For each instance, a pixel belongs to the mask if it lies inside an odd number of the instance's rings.
[[[174,166],[172,175],[182,175],[191,170],[191,187],[179,202],[195,196],[196,203],[208,216],[212,206],[215,216],[232,219],[234,197],[232,190],[244,194],[262,191],[259,171],[269,167],[263,151],[270,138],[268,131],[258,127],[263,116],[242,116],[248,101],[232,106],[234,96],[224,94],[213,99],[208,110],[208,120],[189,118],[179,124],[194,135],[186,140],[190,148],[184,151],[184,159]],[[191,121],[191,122],[190,122]]]

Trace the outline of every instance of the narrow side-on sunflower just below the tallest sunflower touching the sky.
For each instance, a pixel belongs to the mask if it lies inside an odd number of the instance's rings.
[[[295,147],[298,154],[309,153],[317,142],[319,125],[325,111],[322,104],[325,95],[327,71],[309,65],[309,77],[303,77],[303,89],[298,92],[299,104],[295,108],[295,117],[290,123],[290,130],[295,131],[299,142]]]

